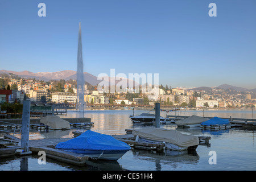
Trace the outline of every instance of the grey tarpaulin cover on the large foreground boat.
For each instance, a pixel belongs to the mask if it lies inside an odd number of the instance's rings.
[[[179,147],[196,146],[199,144],[198,137],[182,134],[177,130],[146,127],[143,129],[133,129],[133,135],[159,142],[168,142]]]

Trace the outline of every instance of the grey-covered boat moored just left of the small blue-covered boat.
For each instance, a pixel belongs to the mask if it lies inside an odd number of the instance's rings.
[[[192,115],[191,117],[175,121],[175,124],[178,127],[200,127],[202,122],[208,121],[208,120],[209,118]]]

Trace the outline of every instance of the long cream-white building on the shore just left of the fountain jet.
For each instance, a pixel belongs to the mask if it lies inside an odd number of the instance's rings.
[[[69,93],[69,92],[52,93],[52,102],[59,104],[59,103],[63,103],[65,100],[68,103],[76,103],[76,93]]]

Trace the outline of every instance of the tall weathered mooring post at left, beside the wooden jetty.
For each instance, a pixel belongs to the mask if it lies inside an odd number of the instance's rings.
[[[26,94],[24,95],[23,100],[23,109],[22,109],[22,139],[21,139],[21,149],[20,154],[31,154],[29,151],[28,141],[30,137],[30,104],[31,101],[27,100]]]

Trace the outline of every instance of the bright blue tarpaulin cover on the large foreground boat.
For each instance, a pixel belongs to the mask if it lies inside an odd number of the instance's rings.
[[[125,142],[121,142],[110,135],[87,130],[79,137],[66,142],[60,142],[56,148],[65,150],[90,150],[90,151],[111,151],[130,150],[131,147]]]

